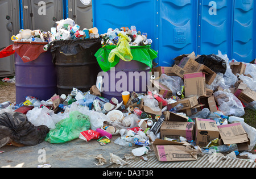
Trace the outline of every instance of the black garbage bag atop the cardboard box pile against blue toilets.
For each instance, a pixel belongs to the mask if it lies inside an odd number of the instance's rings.
[[[204,64],[215,73],[226,73],[226,61],[215,54],[201,55],[198,59],[196,59],[196,61],[200,64]]]

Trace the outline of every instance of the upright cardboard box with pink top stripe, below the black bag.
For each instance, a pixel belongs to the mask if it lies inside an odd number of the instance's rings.
[[[205,74],[203,72],[184,74],[185,97],[206,96]]]

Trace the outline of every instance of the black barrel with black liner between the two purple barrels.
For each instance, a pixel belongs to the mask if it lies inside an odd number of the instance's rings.
[[[100,48],[100,39],[54,41],[51,52],[59,95],[68,95],[73,88],[85,92],[96,84],[101,68],[94,55]]]

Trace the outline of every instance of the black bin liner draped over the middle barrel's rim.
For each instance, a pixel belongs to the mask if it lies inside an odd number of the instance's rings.
[[[79,52],[85,49],[90,49],[90,51],[97,52],[101,48],[100,39],[82,39],[82,40],[57,40],[53,41],[51,45],[51,52],[55,52],[59,49],[60,53],[65,56],[77,55]],[[55,58],[55,53],[53,53],[53,59]]]

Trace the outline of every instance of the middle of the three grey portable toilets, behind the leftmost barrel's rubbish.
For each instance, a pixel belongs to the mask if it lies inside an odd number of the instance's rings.
[[[63,19],[62,0],[23,0],[24,29],[51,31]]]

